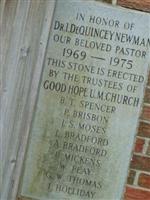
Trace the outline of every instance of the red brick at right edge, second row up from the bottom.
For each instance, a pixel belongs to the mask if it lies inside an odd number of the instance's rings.
[[[150,175],[144,173],[140,174],[138,185],[150,189]]]

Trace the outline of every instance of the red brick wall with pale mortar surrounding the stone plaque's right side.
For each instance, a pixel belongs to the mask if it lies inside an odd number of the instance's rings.
[[[118,0],[117,4],[150,12],[150,0]],[[150,200],[150,74],[130,162],[124,200]]]

